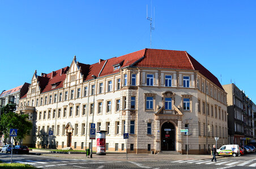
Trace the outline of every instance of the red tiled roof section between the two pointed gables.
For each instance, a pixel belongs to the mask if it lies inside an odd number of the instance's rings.
[[[57,88],[63,87],[63,81],[66,78],[67,70],[69,66],[53,71],[42,76],[37,76],[37,81],[39,82],[39,87],[41,88],[41,93],[48,92],[51,90],[56,90]],[[52,84],[58,84],[56,87],[52,88]]]

